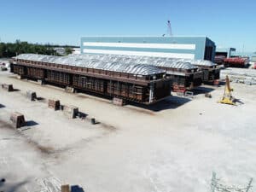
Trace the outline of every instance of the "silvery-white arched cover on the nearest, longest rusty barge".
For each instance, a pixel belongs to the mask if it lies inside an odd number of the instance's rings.
[[[96,68],[106,71],[132,73],[137,75],[152,75],[157,73],[165,73],[157,67],[151,65],[142,65],[135,62],[121,63],[119,61],[103,61],[97,58],[85,58],[79,55],[53,56],[53,55],[37,55],[37,54],[21,54],[16,56],[17,59],[30,61],[43,61],[55,64],[70,65],[77,67]]]

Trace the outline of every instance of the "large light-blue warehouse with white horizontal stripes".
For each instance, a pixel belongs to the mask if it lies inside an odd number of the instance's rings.
[[[207,37],[84,37],[81,54],[141,55],[214,61]]]

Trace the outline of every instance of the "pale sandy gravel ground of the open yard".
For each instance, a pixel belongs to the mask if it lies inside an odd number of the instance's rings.
[[[3,191],[210,191],[212,172],[226,184],[256,176],[256,86],[232,84],[237,106],[217,103],[224,86],[202,86],[193,100],[170,96],[152,107],[113,106],[107,99],[69,94],[0,72],[0,183]],[[26,90],[44,100],[29,102]],[[211,91],[212,98],[204,93]],[[86,119],[47,108],[48,98],[74,105]],[[31,125],[16,131],[9,114]],[[90,118],[100,122],[90,125]]]

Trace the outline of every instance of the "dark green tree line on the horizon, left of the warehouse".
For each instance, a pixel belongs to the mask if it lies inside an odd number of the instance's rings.
[[[0,43],[0,58],[10,58],[23,53],[59,55],[55,51],[55,47],[60,47],[60,45],[29,44],[20,40],[16,40],[15,43]],[[61,47],[65,48],[67,55],[72,52],[73,46],[65,45]]]

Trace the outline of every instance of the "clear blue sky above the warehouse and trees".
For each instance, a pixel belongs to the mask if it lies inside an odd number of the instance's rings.
[[[77,44],[82,36],[207,36],[217,46],[256,51],[255,0],[1,1],[0,38]]]

